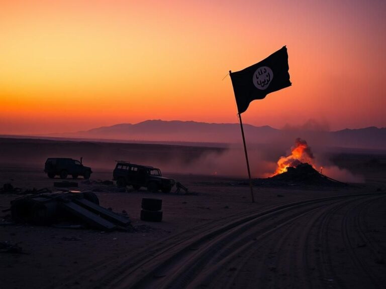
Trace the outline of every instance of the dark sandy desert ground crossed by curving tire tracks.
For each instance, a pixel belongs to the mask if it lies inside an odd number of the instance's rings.
[[[44,160],[39,165],[34,157],[23,164],[19,154],[12,163],[15,147],[3,146],[7,159],[1,163],[0,185],[55,191],[53,181],[60,179],[43,173]],[[219,175],[169,169],[164,175],[186,186],[187,194],[102,184],[112,180],[112,169],[94,169],[89,181],[76,180],[77,190],[93,191],[101,206],[126,211],[134,228],[130,232],[9,223],[10,202],[21,195],[0,194],[0,241],[23,249],[0,253],[1,287],[384,288],[386,171],[381,156],[375,161],[363,154],[335,156],[340,166],[362,173],[364,183],[255,186],[255,203],[240,178]],[[162,222],[140,220],[144,197],[162,199]]]

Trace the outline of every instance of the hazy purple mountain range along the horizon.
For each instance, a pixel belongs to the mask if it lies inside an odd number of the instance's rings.
[[[384,127],[371,126],[338,131],[310,131],[244,124],[244,132],[249,143],[287,142],[296,137],[302,137],[310,143],[314,143],[314,145],[386,149],[386,128]],[[84,131],[52,133],[47,136],[170,142],[235,143],[242,141],[240,124],[238,123],[206,123],[179,120],[146,120],[136,124],[121,123]]]

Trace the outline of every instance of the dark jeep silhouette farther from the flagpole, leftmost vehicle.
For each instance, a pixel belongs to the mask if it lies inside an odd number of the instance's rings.
[[[90,167],[82,165],[82,158],[80,162],[68,158],[48,158],[44,165],[44,172],[51,179],[59,175],[61,179],[67,178],[67,175],[72,175],[73,179],[78,176],[83,176],[84,179],[89,179],[92,173]]]

